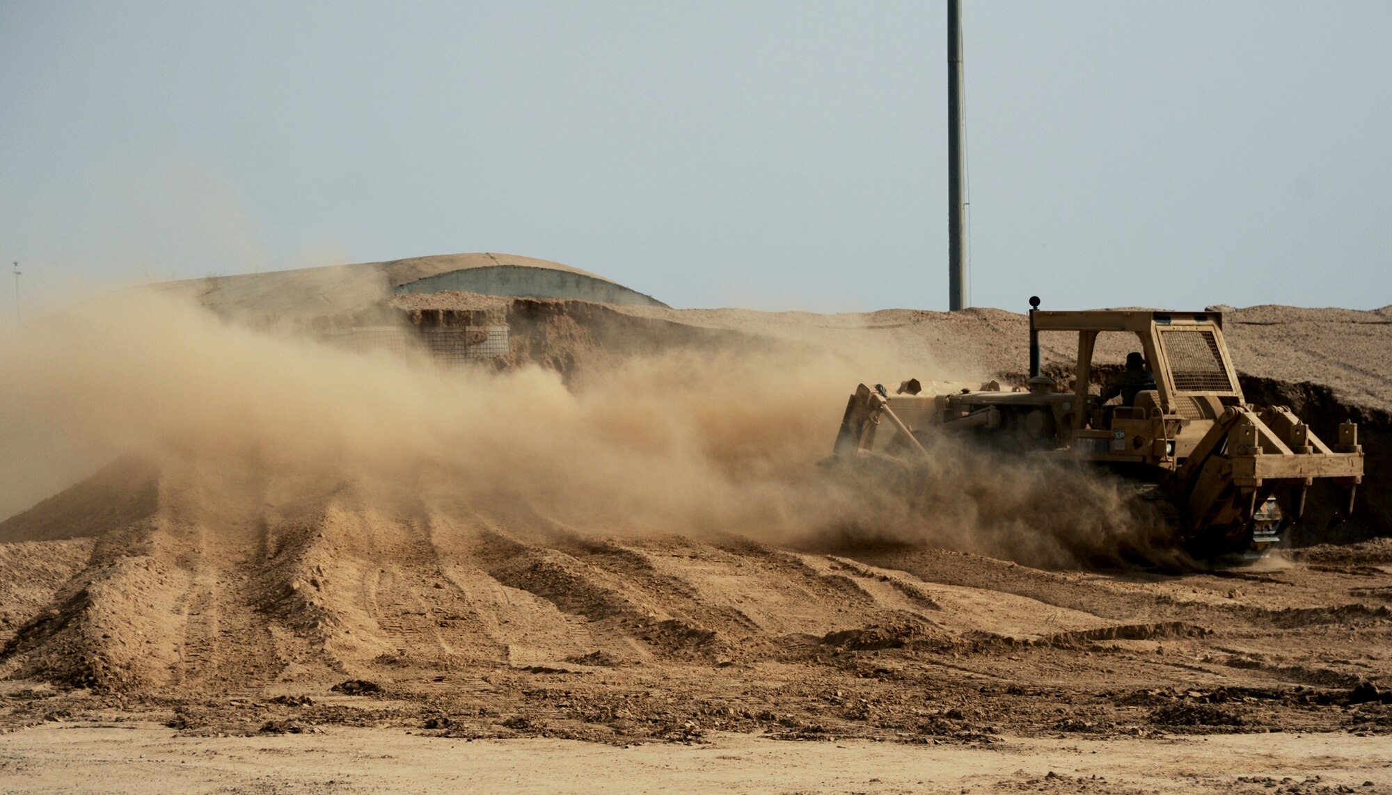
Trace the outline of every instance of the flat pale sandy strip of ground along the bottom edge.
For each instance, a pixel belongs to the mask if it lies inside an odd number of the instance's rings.
[[[406,731],[187,738],[84,723],[0,737],[8,792],[1357,792],[1392,791],[1392,741],[1346,735],[608,746]]]

